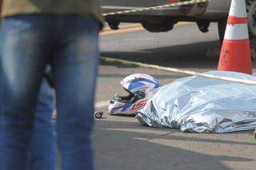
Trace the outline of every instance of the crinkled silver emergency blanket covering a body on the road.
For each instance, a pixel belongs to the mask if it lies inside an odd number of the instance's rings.
[[[244,73],[211,71],[256,81]],[[138,111],[142,124],[182,132],[235,132],[256,127],[256,85],[206,77],[183,77],[165,85]]]

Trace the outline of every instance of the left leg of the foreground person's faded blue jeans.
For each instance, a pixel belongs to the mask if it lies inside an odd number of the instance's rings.
[[[1,170],[26,169],[34,109],[45,68],[42,38],[21,18],[2,21]]]

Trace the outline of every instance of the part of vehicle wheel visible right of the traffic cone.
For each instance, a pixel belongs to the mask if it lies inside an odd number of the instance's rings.
[[[256,38],[256,0],[246,1],[246,11],[250,38]]]

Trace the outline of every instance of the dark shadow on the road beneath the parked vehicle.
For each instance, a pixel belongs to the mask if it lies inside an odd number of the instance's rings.
[[[205,68],[207,66],[209,68],[216,69],[218,65],[218,56],[216,56],[216,58],[206,57],[206,53],[210,48],[219,47],[220,45],[218,41],[199,42],[189,45],[176,45],[156,49],[143,49],[134,52],[102,51],[101,56],[177,68],[184,68],[187,66]],[[113,65],[113,63],[106,63],[105,61],[102,61],[101,64]],[[131,66],[114,63],[114,65],[116,64],[118,67]]]

